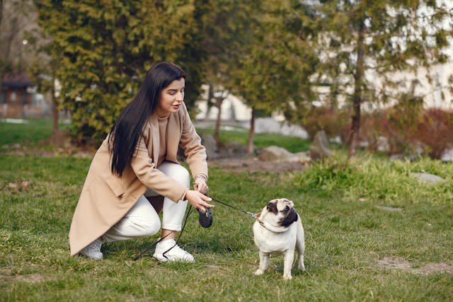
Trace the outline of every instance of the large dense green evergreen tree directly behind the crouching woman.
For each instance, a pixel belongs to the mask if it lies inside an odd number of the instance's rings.
[[[59,62],[62,105],[71,112],[72,136],[98,144],[155,62],[188,72],[186,103],[200,91],[197,1],[36,0],[39,24],[52,38]]]

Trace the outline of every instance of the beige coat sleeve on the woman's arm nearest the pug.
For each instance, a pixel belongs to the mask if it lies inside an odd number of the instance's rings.
[[[201,144],[200,136],[195,131],[187,108],[183,103],[183,130],[180,138],[180,147],[184,150],[187,162],[193,178],[197,175],[205,175],[207,180],[207,162],[206,162],[206,149]]]

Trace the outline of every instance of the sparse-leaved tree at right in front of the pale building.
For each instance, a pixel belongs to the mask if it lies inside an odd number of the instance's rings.
[[[349,156],[355,153],[362,105],[401,100],[398,71],[447,60],[452,18],[437,1],[320,1],[312,5],[320,24],[321,63],[314,86],[328,83],[331,98],[352,105]],[[429,76],[429,74],[428,74]],[[381,83],[379,83],[379,81]],[[375,107],[375,106],[374,106]]]

